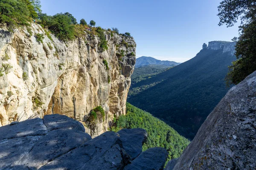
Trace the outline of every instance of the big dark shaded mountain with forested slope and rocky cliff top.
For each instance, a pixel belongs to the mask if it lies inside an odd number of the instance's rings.
[[[128,98],[132,105],[163,119],[193,139],[209,113],[227,93],[224,78],[236,60],[235,42],[212,41],[192,59],[142,80],[133,88],[151,86]]]

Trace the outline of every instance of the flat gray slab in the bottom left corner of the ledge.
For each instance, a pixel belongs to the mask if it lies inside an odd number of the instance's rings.
[[[42,136],[26,136],[0,141],[0,170],[27,170],[20,165],[21,159],[34,147]]]

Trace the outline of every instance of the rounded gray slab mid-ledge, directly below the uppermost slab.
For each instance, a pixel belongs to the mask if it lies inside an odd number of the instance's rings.
[[[23,157],[21,164],[30,170],[36,170],[89,140],[91,136],[79,130],[52,130],[36,142],[32,150]]]

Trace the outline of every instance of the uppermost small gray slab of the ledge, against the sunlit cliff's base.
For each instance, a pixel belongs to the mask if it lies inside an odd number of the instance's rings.
[[[45,115],[43,120],[44,120],[44,124],[47,127],[47,130],[76,129],[76,130],[85,132],[83,124],[65,115],[60,115],[60,114]]]

